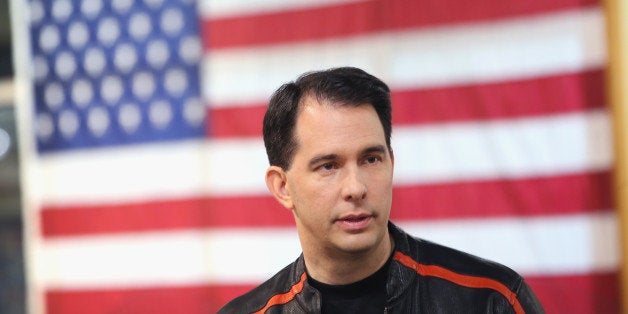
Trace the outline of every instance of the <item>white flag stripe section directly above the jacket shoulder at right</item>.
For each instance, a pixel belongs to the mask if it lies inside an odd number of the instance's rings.
[[[561,275],[615,271],[619,238],[615,214],[468,219],[400,224],[409,233],[523,274]]]

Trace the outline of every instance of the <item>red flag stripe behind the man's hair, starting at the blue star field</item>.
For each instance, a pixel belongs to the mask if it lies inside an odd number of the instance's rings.
[[[510,82],[392,92],[393,125],[519,118],[604,108],[600,69]],[[266,104],[209,109],[208,134],[261,136]]]

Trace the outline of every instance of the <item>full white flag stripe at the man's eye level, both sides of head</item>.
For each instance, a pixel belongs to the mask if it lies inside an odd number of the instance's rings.
[[[530,177],[609,169],[605,111],[393,130],[395,183]],[[238,167],[228,165],[237,164]],[[42,156],[45,203],[267,193],[261,139],[202,140]],[[124,174],[124,177],[121,177]]]

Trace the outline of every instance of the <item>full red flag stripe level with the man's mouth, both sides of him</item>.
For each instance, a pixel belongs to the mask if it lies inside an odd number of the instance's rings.
[[[397,186],[393,190],[395,197],[391,218],[402,221],[608,210],[612,205],[610,184],[609,172],[596,172],[517,180]],[[118,205],[49,206],[40,213],[44,237],[294,225],[290,211],[281,207],[271,196],[242,195]]]

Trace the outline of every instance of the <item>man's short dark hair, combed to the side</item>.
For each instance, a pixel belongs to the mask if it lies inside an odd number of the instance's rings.
[[[308,96],[334,106],[373,106],[391,150],[390,89],[361,69],[340,67],[305,73],[296,81],[283,84],[272,95],[263,124],[264,145],[271,165],[290,169],[298,148],[294,134],[297,116],[303,99]]]

